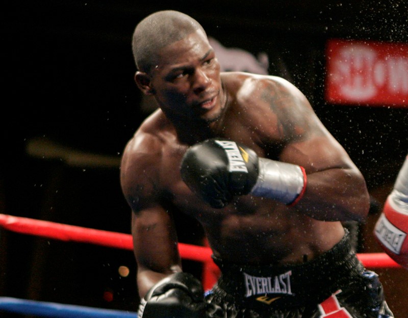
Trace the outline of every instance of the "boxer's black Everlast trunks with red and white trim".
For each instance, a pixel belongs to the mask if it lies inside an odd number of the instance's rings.
[[[247,266],[213,257],[221,277],[206,294],[212,317],[393,317],[378,275],[356,257],[348,231],[322,255],[292,266]]]

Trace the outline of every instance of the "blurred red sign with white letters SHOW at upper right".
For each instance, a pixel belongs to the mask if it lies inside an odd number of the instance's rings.
[[[329,40],[325,99],[408,108],[408,44]]]

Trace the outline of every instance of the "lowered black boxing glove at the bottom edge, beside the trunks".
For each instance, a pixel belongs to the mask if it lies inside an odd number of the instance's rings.
[[[139,318],[203,318],[204,291],[189,273],[175,273],[155,284],[141,299]]]

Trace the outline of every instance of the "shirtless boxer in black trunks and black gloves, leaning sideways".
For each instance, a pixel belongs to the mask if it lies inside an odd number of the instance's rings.
[[[305,96],[279,77],[220,73],[180,12],[147,16],[132,46],[136,84],[160,106],[121,164],[139,318],[392,316],[341,225],[366,218],[365,180]],[[205,294],[182,271],[177,213],[202,225],[221,269]]]

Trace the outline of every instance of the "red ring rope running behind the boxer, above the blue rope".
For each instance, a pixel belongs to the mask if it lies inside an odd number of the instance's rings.
[[[131,234],[96,230],[4,214],[0,214],[0,226],[18,233],[37,235],[61,241],[91,243],[106,247],[133,250]],[[211,249],[209,247],[179,243],[179,252],[182,258],[200,261],[204,264],[203,287],[205,290],[210,289],[216,282],[219,274],[219,269],[211,258]],[[357,256],[367,268],[401,267],[386,253],[359,253]]]

